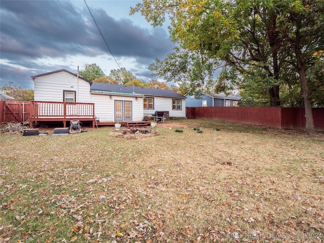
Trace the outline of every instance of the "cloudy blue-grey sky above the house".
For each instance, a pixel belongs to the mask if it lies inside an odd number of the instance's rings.
[[[153,28],[130,7],[140,1],[86,0],[120,67],[149,81],[148,66],[173,51],[166,27]],[[96,63],[118,69],[85,2],[0,1],[1,84],[33,89],[30,76],[59,69],[76,73]]]

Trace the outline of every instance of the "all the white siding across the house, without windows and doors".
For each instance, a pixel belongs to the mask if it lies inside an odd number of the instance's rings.
[[[143,109],[143,98],[128,96],[112,96],[104,94],[90,94],[90,84],[68,72],[61,71],[34,79],[34,100],[63,102],[63,91],[75,92],[75,101],[95,103],[95,115],[100,121],[114,121],[114,101],[132,101],[132,120],[140,121],[144,115],[150,116],[155,111],[169,111],[170,117],[185,117],[186,104],[182,100],[181,110],[172,110],[172,98],[153,97],[154,109]]]

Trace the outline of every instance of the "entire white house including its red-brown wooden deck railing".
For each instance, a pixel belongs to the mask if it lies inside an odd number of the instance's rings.
[[[171,90],[93,83],[65,69],[34,75],[35,112],[31,121],[142,121],[155,111],[185,117],[186,97]]]

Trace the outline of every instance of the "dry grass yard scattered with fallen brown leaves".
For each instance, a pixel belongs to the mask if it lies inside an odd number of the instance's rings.
[[[215,120],[156,130],[1,134],[0,241],[324,240],[322,133]]]

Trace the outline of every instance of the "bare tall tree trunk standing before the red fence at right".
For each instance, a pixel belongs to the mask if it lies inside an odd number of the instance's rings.
[[[299,38],[300,33],[296,31],[296,42],[294,43],[294,52],[296,55],[297,60],[297,69],[299,73],[299,79],[301,83],[301,89],[304,96],[304,103],[305,103],[305,116],[306,116],[306,132],[307,134],[315,134],[315,127],[314,127],[314,120],[313,120],[313,112],[312,112],[312,105],[309,99],[309,90],[306,80],[306,73],[304,70],[304,65],[302,61],[302,52],[299,48]]]

